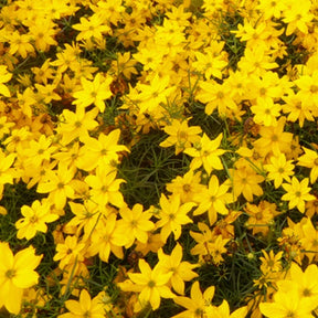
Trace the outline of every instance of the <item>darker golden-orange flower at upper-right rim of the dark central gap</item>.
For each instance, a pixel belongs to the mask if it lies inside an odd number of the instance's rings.
[[[169,137],[160,142],[160,147],[176,146],[176,155],[183,151],[186,148],[191,147],[194,142],[200,140],[199,134],[201,134],[200,126],[188,126],[188,120],[173,119],[170,125],[165,126],[165,132]]]

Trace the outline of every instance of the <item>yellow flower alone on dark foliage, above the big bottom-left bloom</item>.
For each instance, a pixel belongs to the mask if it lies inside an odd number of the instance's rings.
[[[21,214],[24,216],[15,222],[18,229],[17,237],[31,240],[36,232],[46,233],[46,223],[54,222],[59,219],[57,214],[51,212],[50,202],[35,200],[31,206],[22,205]]]

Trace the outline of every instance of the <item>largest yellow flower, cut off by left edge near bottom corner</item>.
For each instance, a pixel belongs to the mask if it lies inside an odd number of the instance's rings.
[[[21,309],[23,290],[38,284],[42,255],[36,256],[30,246],[13,255],[8,243],[0,242],[0,307],[18,315]]]

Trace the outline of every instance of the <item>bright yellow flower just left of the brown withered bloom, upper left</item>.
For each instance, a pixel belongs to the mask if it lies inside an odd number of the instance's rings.
[[[73,104],[84,108],[94,104],[103,113],[105,110],[104,100],[113,95],[109,88],[112,81],[112,77],[104,77],[100,73],[95,75],[93,82],[85,77],[81,77],[83,91],[73,94],[73,97],[75,98]]]

